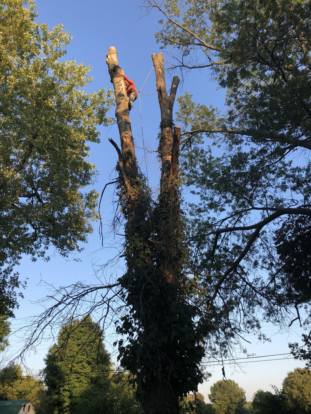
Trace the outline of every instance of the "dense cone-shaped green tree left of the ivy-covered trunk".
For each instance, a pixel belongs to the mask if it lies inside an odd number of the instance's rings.
[[[111,370],[100,327],[90,316],[70,319],[46,356],[44,383],[48,413],[74,413],[85,407],[97,412],[105,398]]]

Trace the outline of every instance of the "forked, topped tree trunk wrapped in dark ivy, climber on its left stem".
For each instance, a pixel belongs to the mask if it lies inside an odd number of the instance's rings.
[[[179,84],[165,87],[163,55],[152,55],[161,110],[159,155],[160,195],[151,199],[145,177],[137,167],[123,73],[117,51],[109,48],[107,64],[114,86],[121,149],[118,152],[119,198],[125,224],[127,271],[119,279],[129,312],[117,332],[122,366],[136,378],[145,414],[177,414],[179,398],[195,390],[202,379],[202,335],[195,331],[192,308],[182,286],[186,261],[180,211],[178,155],[180,128],[173,130],[173,104]]]

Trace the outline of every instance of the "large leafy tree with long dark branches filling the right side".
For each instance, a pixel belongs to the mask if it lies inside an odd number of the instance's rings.
[[[146,3],[165,15],[156,36],[177,59],[172,65],[211,66],[226,89],[226,113],[209,105],[208,94],[194,103],[185,93],[176,121],[187,138],[182,178],[194,195],[188,266],[202,293],[193,303],[208,303],[201,323],[213,342],[209,351],[221,343],[226,352],[242,331],[266,339],[260,318],[283,323],[284,306],[295,313],[305,307],[308,326],[309,2]]]

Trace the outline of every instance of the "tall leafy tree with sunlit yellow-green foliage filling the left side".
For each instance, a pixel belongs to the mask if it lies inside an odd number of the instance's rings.
[[[67,257],[92,231],[97,193],[87,142],[99,142],[111,93],[87,94],[90,67],[64,61],[71,36],[35,22],[34,0],[0,5],[0,314],[12,315],[22,254]]]

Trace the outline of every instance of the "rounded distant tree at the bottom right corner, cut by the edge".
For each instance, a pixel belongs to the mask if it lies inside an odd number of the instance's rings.
[[[295,368],[284,378],[284,397],[294,413],[307,414],[311,410],[311,371]]]

